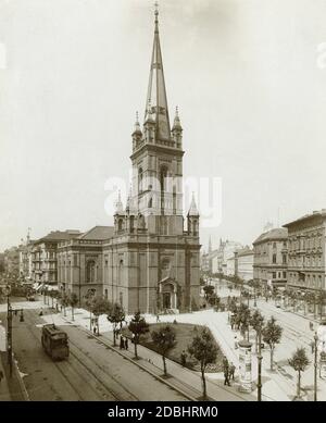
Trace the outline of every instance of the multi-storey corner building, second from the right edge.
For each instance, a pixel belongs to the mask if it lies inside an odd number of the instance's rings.
[[[286,228],[263,233],[254,242],[253,278],[263,287],[284,287],[287,283]]]

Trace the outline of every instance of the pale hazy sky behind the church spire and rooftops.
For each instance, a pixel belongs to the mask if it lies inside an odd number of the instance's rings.
[[[28,227],[39,238],[113,223],[105,184],[128,176],[153,9],[0,0],[0,250]],[[221,178],[222,219],[202,227],[204,249],[210,235],[213,247],[250,245],[266,222],[326,208],[325,16],[326,0],[160,1],[184,175]]]

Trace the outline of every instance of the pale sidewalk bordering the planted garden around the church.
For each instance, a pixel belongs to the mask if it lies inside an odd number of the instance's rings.
[[[75,309],[75,320],[72,321],[71,309],[66,309],[66,316],[63,315],[63,312],[57,313],[53,310],[51,311],[47,306],[42,306],[45,310],[43,320],[47,323],[55,323],[57,325],[76,325],[80,326],[84,329],[89,331],[89,312],[84,309]],[[46,309],[47,312],[46,312]],[[216,313],[212,310],[199,311],[188,314],[177,314],[177,315],[161,315],[162,322],[172,323],[174,320],[177,320],[178,323],[192,323],[198,325],[206,325],[210,327],[213,336],[215,337],[217,344],[220,345],[224,354],[228,358],[229,361],[234,362],[237,368],[239,368],[239,358],[238,350],[235,347],[235,335],[237,335],[238,340],[241,339],[238,333],[231,331],[229,324],[227,323],[228,313]],[[145,316],[148,323],[155,323],[154,315]],[[127,318],[130,320],[130,316]],[[100,322],[100,333],[102,336],[101,339],[112,343],[112,324],[108,322],[105,315],[101,315],[99,319]],[[254,343],[253,343],[254,344]],[[133,345],[130,345],[131,349]],[[149,366],[151,371],[160,376],[163,374],[163,364],[162,357],[154,351],[151,351],[145,347],[139,346],[139,356],[142,357],[141,363]],[[254,345],[252,347],[254,351]],[[134,357],[134,351],[124,351],[128,357]],[[269,351],[263,351],[263,363],[269,363]],[[202,381],[198,372],[190,371],[188,369],[181,368],[179,364],[167,360],[168,373],[173,377],[168,378],[170,383],[175,383],[175,386],[181,386],[188,391],[192,391],[192,396],[201,396],[202,391]],[[268,365],[263,365],[262,372],[262,382],[263,382],[263,400],[265,401],[289,401],[293,398],[293,393],[296,391],[296,381],[291,381],[281,373],[283,370],[275,366],[275,371],[271,372],[267,370]],[[256,354],[252,353],[252,381],[256,382],[256,371],[258,371],[258,359]],[[228,401],[254,401],[256,400],[256,390],[253,390],[251,394],[242,394],[238,391],[237,381],[234,383],[234,386],[226,387],[224,386],[224,377],[222,373],[208,373],[208,395],[214,400],[228,400]]]

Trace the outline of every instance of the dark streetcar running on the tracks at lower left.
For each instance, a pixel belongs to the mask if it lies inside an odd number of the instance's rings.
[[[54,324],[42,327],[42,347],[52,360],[64,360],[70,356],[68,337]]]

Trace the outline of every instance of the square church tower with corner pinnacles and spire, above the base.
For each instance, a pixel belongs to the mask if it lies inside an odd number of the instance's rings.
[[[133,203],[149,234],[183,235],[183,127],[178,109],[171,127],[155,10],[154,42],[143,127],[133,133]]]

